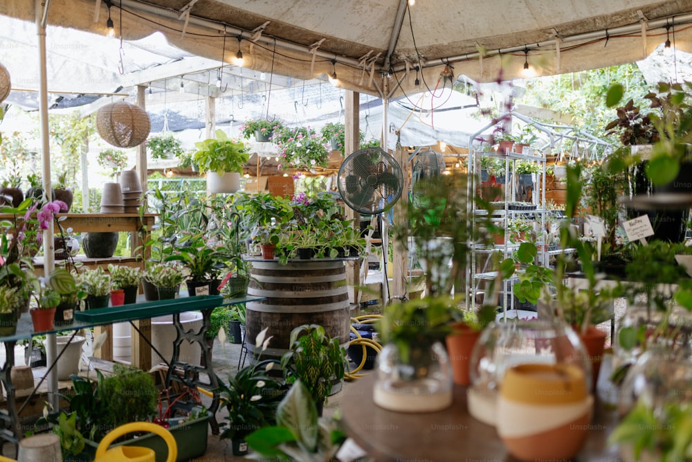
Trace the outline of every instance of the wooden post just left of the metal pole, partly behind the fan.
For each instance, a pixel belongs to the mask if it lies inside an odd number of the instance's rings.
[[[356,152],[361,144],[361,94],[356,91],[345,91],[344,96],[344,112],[345,112],[345,142],[344,154],[349,155]],[[361,215],[350,207],[346,207],[346,219],[354,220],[356,230],[361,229]],[[367,262],[365,263],[367,265]],[[349,261],[346,263],[346,281],[348,285],[353,287],[353,299],[350,302],[353,305],[361,301],[361,261]]]

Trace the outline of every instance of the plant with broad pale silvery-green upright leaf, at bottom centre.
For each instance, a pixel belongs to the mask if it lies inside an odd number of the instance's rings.
[[[263,460],[334,461],[346,441],[334,419],[318,418],[310,392],[300,380],[279,403],[276,426],[248,435],[246,441]]]

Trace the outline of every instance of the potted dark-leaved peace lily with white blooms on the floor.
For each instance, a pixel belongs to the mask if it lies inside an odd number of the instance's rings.
[[[257,335],[257,350],[266,350],[266,329]],[[277,365],[275,359],[253,361],[235,375],[228,375],[228,385],[222,384],[219,395],[228,410],[228,427],[221,432],[221,439],[233,441],[233,455],[247,453],[246,436],[257,429],[273,425],[279,402],[284,397],[282,384],[267,373]]]

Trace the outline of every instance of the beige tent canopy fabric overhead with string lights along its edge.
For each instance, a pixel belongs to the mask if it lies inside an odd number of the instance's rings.
[[[33,21],[34,12],[27,3],[3,0],[0,15]],[[97,3],[99,19],[94,21]],[[116,30],[120,29],[119,4],[113,2],[111,6]],[[185,15],[181,10],[188,4],[192,4],[192,18],[183,35]],[[401,89],[415,89],[415,71],[406,75],[406,62],[409,69],[418,62],[414,39],[421,62],[430,66],[423,71],[430,87],[437,84],[444,69],[444,64],[438,64],[450,57],[454,58],[450,65],[455,75],[468,75],[477,82],[518,77],[525,62],[525,47],[538,75],[633,62],[665,40],[666,20],[675,22],[675,46],[692,51],[689,0],[440,0],[417,1],[411,7],[407,4],[406,0],[122,0],[122,34],[128,40],[142,39],[161,30],[170,44],[187,53],[220,61],[221,30],[226,28],[225,62],[235,56],[235,38],[243,33],[242,51],[250,69],[310,80],[331,75],[336,57],[340,87],[376,96],[397,96]],[[646,40],[641,37],[640,14],[646,19],[644,26],[648,25]],[[48,12],[49,24],[100,34],[105,32],[106,18],[105,3],[96,0],[51,0]],[[270,22],[253,44],[249,40],[252,31],[266,21]],[[622,32],[625,27],[629,27],[627,33]],[[611,31],[608,37],[606,30]],[[559,65],[555,34],[561,37]],[[320,39],[325,39],[319,47],[322,55],[316,56],[311,66],[312,55],[306,50]],[[394,74],[388,79],[381,72],[392,45],[390,68],[386,69],[394,70]],[[479,49],[486,53],[482,60],[477,58]],[[504,51],[498,55],[500,50]],[[379,54],[373,69],[358,64],[367,53],[370,57]],[[125,69],[126,73],[134,71]]]

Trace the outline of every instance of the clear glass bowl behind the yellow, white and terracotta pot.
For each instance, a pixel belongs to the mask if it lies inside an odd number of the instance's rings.
[[[471,354],[468,412],[495,425],[495,404],[507,369],[518,364],[566,364],[579,368],[591,384],[588,354],[570,326],[561,321],[491,323]]]

